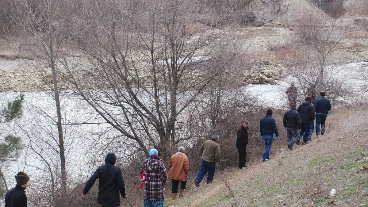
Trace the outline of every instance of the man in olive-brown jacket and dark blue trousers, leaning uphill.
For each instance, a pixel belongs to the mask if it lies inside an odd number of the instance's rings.
[[[207,183],[212,183],[213,176],[215,175],[216,162],[220,161],[220,145],[217,143],[219,136],[217,134],[212,136],[212,139],[205,141],[201,148],[201,170],[199,170],[197,178],[195,179],[195,186],[199,187],[199,183],[203,177],[207,175]]]

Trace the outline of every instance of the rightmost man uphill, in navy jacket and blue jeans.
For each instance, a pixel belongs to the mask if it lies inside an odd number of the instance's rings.
[[[326,118],[328,111],[331,110],[331,102],[325,97],[325,91],[319,92],[319,98],[314,104],[314,109],[316,111],[316,136],[319,136],[319,125],[321,125],[321,135],[325,134],[326,131]]]

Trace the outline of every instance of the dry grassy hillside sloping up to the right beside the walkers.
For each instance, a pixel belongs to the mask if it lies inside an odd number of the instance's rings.
[[[358,162],[361,152],[368,152],[367,115],[365,110],[335,111],[327,118],[326,136],[295,145],[291,152],[285,147],[245,170],[216,172],[209,185],[195,188],[189,181],[186,196],[175,202],[166,197],[165,205],[368,206],[368,171],[360,169],[368,161]],[[281,141],[286,145],[286,137]],[[335,197],[329,196],[331,189]]]

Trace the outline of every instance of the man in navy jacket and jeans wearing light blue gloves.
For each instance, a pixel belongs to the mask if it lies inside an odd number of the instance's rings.
[[[259,124],[259,131],[261,131],[261,138],[265,140],[265,153],[261,161],[265,162],[270,159],[270,150],[273,141],[273,133],[276,134],[276,139],[279,138],[275,119],[272,118],[272,110],[267,109],[266,116],[261,119]]]

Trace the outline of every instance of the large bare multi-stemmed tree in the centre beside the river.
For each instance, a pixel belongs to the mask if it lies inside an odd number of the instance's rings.
[[[194,23],[193,1],[147,1],[131,13],[133,4],[86,5],[92,21],[80,38],[95,75],[71,77],[72,89],[118,132],[113,140],[165,155],[192,138],[178,138],[178,119],[217,77],[233,73],[242,44],[230,31]]]

